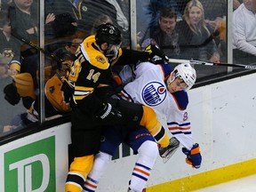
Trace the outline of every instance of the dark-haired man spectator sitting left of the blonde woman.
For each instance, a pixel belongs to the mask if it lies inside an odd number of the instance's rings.
[[[169,58],[178,58],[180,47],[178,44],[179,34],[175,27],[177,23],[176,13],[172,8],[161,10],[158,25],[151,29],[150,38],[156,41],[160,50],[164,51]]]

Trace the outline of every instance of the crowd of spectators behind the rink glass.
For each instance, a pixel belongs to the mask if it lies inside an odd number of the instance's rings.
[[[76,60],[79,44],[97,26],[115,24],[122,31],[122,47],[131,48],[130,10],[134,7],[129,0],[44,0],[44,34],[39,28],[41,1],[0,2],[0,136],[40,122],[40,50],[36,49],[40,36],[45,39],[45,120],[69,114],[61,78]],[[156,44],[172,59],[227,62],[227,18],[232,16],[227,0],[137,0],[136,4],[137,36],[132,38],[141,52],[148,44]],[[256,2],[234,0],[233,9],[233,62],[250,65],[256,55],[252,30]],[[228,73],[227,67],[195,68],[198,81]]]

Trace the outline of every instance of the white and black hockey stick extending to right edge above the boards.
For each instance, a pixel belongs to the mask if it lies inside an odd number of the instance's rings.
[[[245,68],[245,69],[256,69],[256,66],[249,66],[243,64],[231,64],[231,63],[224,63],[224,62],[205,62],[201,60],[176,60],[176,59],[169,59],[168,63],[190,63],[196,65],[205,65],[205,66],[225,66],[225,67],[236,67],[236,68]]]

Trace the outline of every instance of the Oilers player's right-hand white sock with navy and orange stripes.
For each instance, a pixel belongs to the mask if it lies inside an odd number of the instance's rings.
[[[151,169],[153,168],[158,155],[156,142],[146,140],[138,149],[138,160],[132,172],[132,179],[129,188],[132,191],[142,191],[145,188]]]

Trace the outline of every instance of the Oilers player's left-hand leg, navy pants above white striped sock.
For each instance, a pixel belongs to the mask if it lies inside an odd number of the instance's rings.
[[[100,152],[95,155],[92,170],[84,184],[84,192],[94,192],[96,190],[102,175],[107,169],[108,163],[111,161],[112,156],[116,153],[116,149],[123,141],[122,128],[102,127],[102,131],[103,135],[100,142]]]

